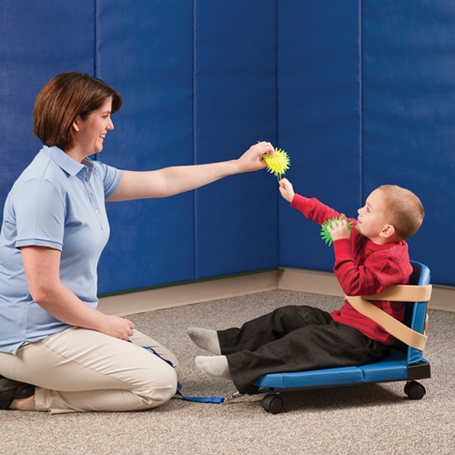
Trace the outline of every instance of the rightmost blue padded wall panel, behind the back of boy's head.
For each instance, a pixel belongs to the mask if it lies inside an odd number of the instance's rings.
[[[412,258],[434,283],[454,285],[455,3],[363,1],[364,196],[409,187],[426,217]]]

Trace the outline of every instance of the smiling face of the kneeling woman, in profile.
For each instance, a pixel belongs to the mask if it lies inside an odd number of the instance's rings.
[[[76,147],[88,157],[103,150],[107,131],[114,129],[111,119],[112,98],[96,111],[89,114],[85,120],[80,116],[76,119]]]

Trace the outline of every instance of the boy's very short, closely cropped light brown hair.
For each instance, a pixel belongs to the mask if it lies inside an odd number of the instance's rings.
[[[420,198],[398,185],[382,185],[378,189],[384,195],[386,220],[395,227],[397,237],[406,240],[413,236],[425,216]]]

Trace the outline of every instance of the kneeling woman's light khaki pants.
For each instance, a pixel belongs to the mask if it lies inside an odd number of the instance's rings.
[[[126,411],[156,408],[177,390],[177,359],[135,330],[131,343],[95,330],[71,328],[16,355],[0,353],[0,374],[34,384],[37,410]],[[143,346],[154,349],[172,368]]]

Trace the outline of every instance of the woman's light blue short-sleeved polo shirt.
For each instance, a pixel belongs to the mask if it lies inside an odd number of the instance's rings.
[[[96,308],[96,268],[109,238],[105,200],[121,171],[58,147],[43,147],[6,197],[0,234],[0,351],[15,353],[69,326],[37,305],[25,278],[21,247],[61,251],[60,279]]]

